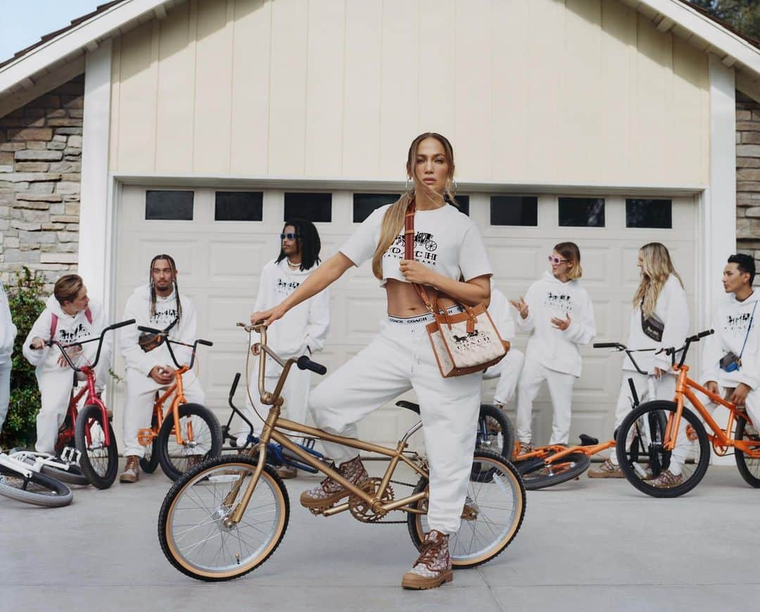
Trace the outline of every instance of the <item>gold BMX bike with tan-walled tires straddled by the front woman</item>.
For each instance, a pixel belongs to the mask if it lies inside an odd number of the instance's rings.
[[[283,453],[333,478],[349,491],[344,503],[312,512],[323,516],[349,512],[366,523],[407,523],[410,537],[419,549],[428,531],[429,469],[423,455],[408,449],[408,440],[420,431],[422,422],[410,427],[392,449],[280,418],[283,405],[280,392],[293,364],[317,374],[325,374],[327,370],[306,355],[287,361],[280,359],[267,345],[263,324],[238,325],[249,334],[261,335],[258,391],[261,402],[271,409],[258,443],[238,455],[207,459],[182,475],[166,494],[159,513],[158,536],[169,563],[192,578],[220,581],[251,572],[274,553],[287,531],[290,498],[283,481],[267,463],[270,443],[282,445]],[[283,368],[271,392],[264,389],[267,358]],[[311,446],[293,442],[282,430],[302,434],[312,446],[314,439],[326,440],[388,457],[388,468],[381,478],[369,478],[358,487],[317,453],[310,453]],[[393,480],[400,464],[417,475],[416,484]],[[407,486],[412,491],[410,495],[397,497],[392,485]],[[407,519],[388,520],[393,511],[406,513]],[[517,535],[524,514],[525,490],[518,471],[503,456],[476,450],[461,526],[458,533],[449,537],[451,563],[455,568],[473,567],[499,555]]]

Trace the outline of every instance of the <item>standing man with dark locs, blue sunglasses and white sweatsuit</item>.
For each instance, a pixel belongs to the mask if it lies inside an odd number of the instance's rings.
[[[280,304],[285,298],[299,288],[302,282],[309,278],[319,265],[321,241],[319,232],[314,224],[306,219],[287,221],[280,234],[280,254],[276,260],[268,262],[261,270],[258,283],[255,311],[264,311]],[[302,301],[283,317],[284,325],[269,328],[267,343],[277,355],[283,359],[312,355],[325,344],[330,327],[330,298],[328,291],[320,292],[312,298]],[[258,355],[258,343],[251,347],[254,355]],[[274,389],[282,368],[275,361],[268,362],[266,388]],[[245,415],[255,427],[255,434],[261,433],[262,421],[254,414],[253,409],[263,418],[269,412],[269,407],[261,404],[258,396],[258,368],[249,372],[251,397],[255,405],[249,401],[245,405]],[[309,386],[311,372],[293,368],[288,374],[283,397],[287,409],[287,418],[298,423],[306,422],[309,405]],[[238,445],[245,443],[249,427],[245,423],[237,432]],[[296,468],[282,465],[277,469],[280,478],[294,478]]]

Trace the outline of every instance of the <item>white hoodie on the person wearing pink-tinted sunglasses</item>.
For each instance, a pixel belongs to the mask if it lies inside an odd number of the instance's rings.
[[[578,346],[588,344],[597,333],[594,305],[577,280],[559,281],[546,272],[527,290],[528,316],[515,317],[518,329],[532,332],[525,350],[526,359],[538,361],[544,368],[573,376],[581,375]],[[564,331],[552,325],[552,317],[571,323]]]

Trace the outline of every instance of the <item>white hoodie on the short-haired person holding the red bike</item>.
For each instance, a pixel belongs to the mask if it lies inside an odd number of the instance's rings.
[[[78,342],[81,340],[87,340],[93,337],[100,336],[103,331],[103,327],[106,327],[106,316],[103,312],[101,305],[94,300],[90,300],[88,307],[93,322],[87,320],[87,311],[80,311],[73,317],[70,314],[66,314],[59,301],[55,299],[55,295],[51,295],[46,303],[45,310],[37,317],[32,329],[24,340],[24,357],[27,358],[30,364],[36,366],[36,373],[43,374],[46,371],[60,371],[62,366],[58,364],[58,358],[61,356],[61,350],[57,346],[46,346],[43,349],[30,349],[29,345],[34,338],[42,338],[48,340],[50,338],[50,327],[52,325],[52,315],[55,314],[58,317],[58,323],[55,327],[55,337],[52,339],[58,340],[62,344],[71,344],[72,342]],[[103,340],[103,349],[101,353],[103,355],[110,355],[110,339],[106,336]],[[87,342],[82,345],[82,353],[74,361],[75,365],[86,364],[88,361],[92,361],[95,358],[97,352],[97,342]],[[87,360],[87,361],[85,361]],[[68,368],[68,364],[65,366]]]

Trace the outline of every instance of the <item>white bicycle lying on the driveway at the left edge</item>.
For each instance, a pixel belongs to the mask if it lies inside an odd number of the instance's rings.
[[[74,499],[71,489],[42,473],[49,458],[26,456],[22,460],[14,455],[0,453],[0,495],[47,508],[60,508],[71,503]]]

